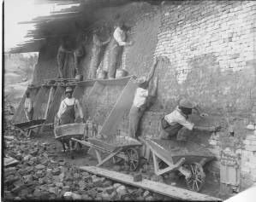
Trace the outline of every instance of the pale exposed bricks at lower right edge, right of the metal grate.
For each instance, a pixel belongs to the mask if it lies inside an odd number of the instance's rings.
[[[256,130],[247,135],[243,141],[244,150],[241,155],[241,175],[249,174],[250,179],[256,183]]]

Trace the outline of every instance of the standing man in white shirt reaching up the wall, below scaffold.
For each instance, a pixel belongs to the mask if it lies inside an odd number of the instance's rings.
[[[154,72],[158,65],[158,59],[154,59],[151,72],[146,77],[136,78],[138,88],[135,91],[134,102],[129,112],[128,134],[130,137],[138,137],[138,126],[140,119],[146,109],[152,106],[157,95],[158,77],[154,79]]]

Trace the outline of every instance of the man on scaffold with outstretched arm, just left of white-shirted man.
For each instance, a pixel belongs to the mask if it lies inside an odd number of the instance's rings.
[[[103,32],[103,26],[101,28],[101,32]],[[92,59],[90,62],[90,72],[89,72],[89,78],[96,78],[96,72],[98,69],[98,65],[100,62],[100,57],[102,54],[103,46],[110,42],[110,38],[108,38],[106,41],[102,42],[99,38],[99,31],[98,29],[93,30],[93,46],[92,46]]]

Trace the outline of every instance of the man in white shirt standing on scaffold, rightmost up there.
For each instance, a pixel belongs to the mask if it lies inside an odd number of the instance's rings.
[[[122,58],[122,47],[132,45],[132,42],[125,42],[126,31],[127,27],[122,21],[119,21],[110,42],[109,78],[116,78],[116,66]]]

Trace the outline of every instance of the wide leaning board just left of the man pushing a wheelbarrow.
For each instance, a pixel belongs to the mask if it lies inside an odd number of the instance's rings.
[[[61,99],[62,99],[64,91],[65,91],[65,89],[63,88],[63,86],[57,86],[55,95],[53,97],[51,106],[49,108],[49,113],[47,114],[47,118],[45,120],[45,124],[54,122],[54,117],[60,107]]]

